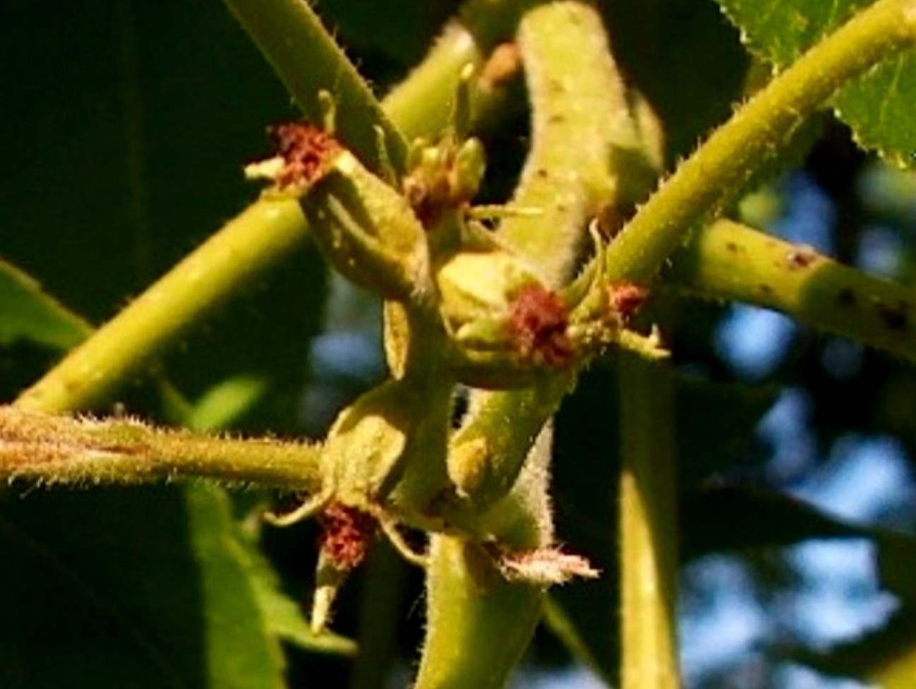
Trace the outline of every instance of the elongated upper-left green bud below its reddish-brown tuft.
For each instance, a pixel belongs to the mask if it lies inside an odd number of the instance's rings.
[[[420,221],[397,190],[352,154],[337,156],[301,204],[322,251],[342,275],[399,301],[429,291]]]

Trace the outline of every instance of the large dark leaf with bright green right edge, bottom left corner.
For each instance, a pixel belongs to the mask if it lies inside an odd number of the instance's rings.
[[[283,659],[224,492],[7,492],[5,689],[278,689]]]

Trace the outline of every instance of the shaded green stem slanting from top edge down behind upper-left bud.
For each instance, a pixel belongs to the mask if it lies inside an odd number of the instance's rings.
[[[304,0],[225,0],[261,53],[277,72],[306,119],[324,120],[319,92],[336,106],[335,130],[365,167],[383,172],[376,127],[385,135],[387,155],[403,171],[407,146],[382,111],[368,84]]]

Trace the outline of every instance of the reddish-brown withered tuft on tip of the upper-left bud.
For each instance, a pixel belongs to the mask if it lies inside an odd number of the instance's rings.
[[[310,185],[322,177],[333,156],[342,150],[332,135],[313,124],[278,124],[267,132],[285,164],[277,176],[279,188]]]

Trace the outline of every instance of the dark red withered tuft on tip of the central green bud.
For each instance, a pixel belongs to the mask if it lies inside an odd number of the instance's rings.
[[[526,359],[565,366],[573,360],[573,342],[566,334],[568,311],[560,296],[540,285],[521,291],[509,310],[508,329]]]

